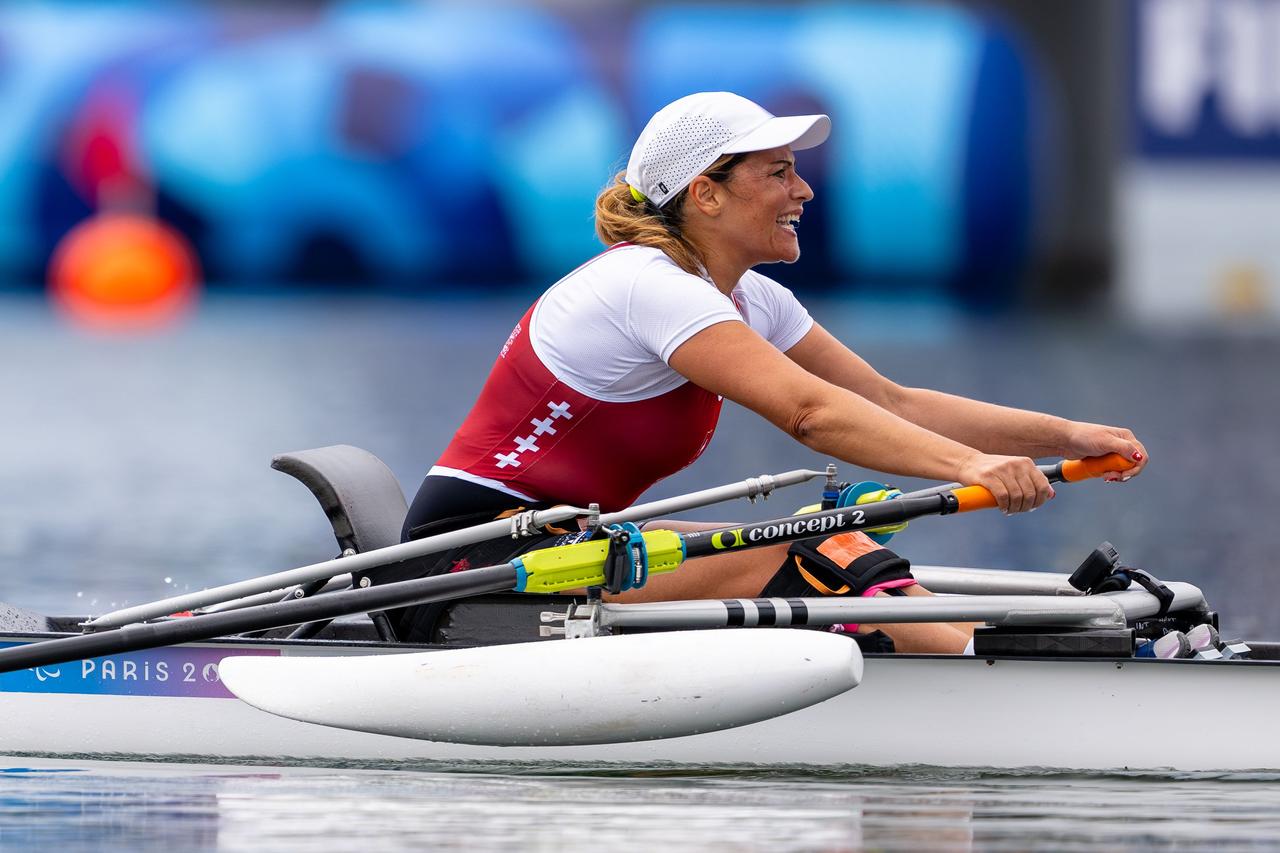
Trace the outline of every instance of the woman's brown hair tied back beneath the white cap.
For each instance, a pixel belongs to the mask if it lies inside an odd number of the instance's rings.
[[[703,174],[716,183],[724,183],[745,156],[721,155]],[[680,269],[690,275],[701,275],[701,252],[682,229],[687,197],[689,187],[685,187],[662,207],[652,201],[636,201],[626,182],[626,172],[620,172],[613,183],[595,197],[595,234],[605,246],[627,242],[660,248]]]

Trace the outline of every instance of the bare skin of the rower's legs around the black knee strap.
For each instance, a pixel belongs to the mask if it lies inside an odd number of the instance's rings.
[[[646,529],[692,533],[731,526],[732,523],[712,524],[699,521],[649,521]],[[643,589],[632,589],[608,601],[635,605],[650,601],[676,601],[689,598],[758,598],[760,590],[778,573],[787,560],[788,543],[750,548],[735,553],[696,557],[677,571],[653,575]],[[908,596],[929,596],[919,584],[906,587]],[[877,596],[886,596],[881,592]],[[942,622],[901,622],[893,625],[863,625],[860,633],[882,630],[893,638],[900,652],[959,654],[964,652],[973,628]]]

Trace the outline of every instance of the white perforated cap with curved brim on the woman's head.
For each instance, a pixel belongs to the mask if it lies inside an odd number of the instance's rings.
[[[777,117],[732,92],[686,95],[658,110],[631,149],[626,181],[659,207],[722,154],[822,145],[826,115]]]

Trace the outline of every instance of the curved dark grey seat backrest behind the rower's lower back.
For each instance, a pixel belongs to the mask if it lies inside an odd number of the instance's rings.
[[[271,467],[311,489],[320,501],[338,547],[356,552],[401,540],[408,505],[392,470],[372,453],[351,444],[280,453]]]

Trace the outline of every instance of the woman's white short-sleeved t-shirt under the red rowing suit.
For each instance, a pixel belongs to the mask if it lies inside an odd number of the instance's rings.
[[[539,360],[570,388],[605,402],[657,397],[687,382],[671,353],[703,329],[745,321],[786,352],[813,328],[799,300],[748,270],[733,298],[662,250],[618,245],[553,284],[530,321]]]

